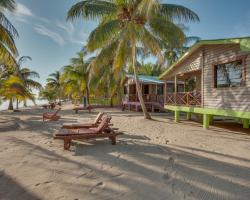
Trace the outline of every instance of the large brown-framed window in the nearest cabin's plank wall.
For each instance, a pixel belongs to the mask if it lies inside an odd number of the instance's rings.
[[[244,83],[243,60],[215,65],[215,88],[237,87]]]

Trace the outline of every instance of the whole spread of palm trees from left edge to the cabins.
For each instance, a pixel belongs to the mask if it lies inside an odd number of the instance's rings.
[[[44,88],[36,81],[39,74],[23,67],[28,56],[18,59],[15,38],[18,32],[5,11],[15,11],[14,0],[0,1],[0,101],[9,101],[9,109],[35,100],[34,90],[48,101],[70,99],[88,105],[93,99],[114,105],[121,102],[126,74],[135,77],[144,117],[150,119],[138,75],[159,76],[174,63],[198,37],[186,37],[181,23],[199,21],[190,9],[157,0],[85,0],[74,4],[67,19],[97,20],[87,44],[68,65],[51,73]],[[147,63],[147,58],[156,58]]]

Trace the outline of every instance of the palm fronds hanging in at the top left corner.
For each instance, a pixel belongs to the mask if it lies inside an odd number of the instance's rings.
[[[18,32],[11,22],[4,15],[5,10],[13,12],[15,9],[14,0],[0,1],[0,64],[15,66],[15,58],[18,55],[14,39]]]

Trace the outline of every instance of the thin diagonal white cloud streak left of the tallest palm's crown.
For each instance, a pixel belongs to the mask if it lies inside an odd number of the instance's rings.
[[[54,31],[51,31],[49,30],[48,28],[46,28],[45,26],[42,26],[42,25],[37,25],[34,30],[40,34],[40,35],[43,35],[43,36],[47,36],[49,37],[51,40],[53,40],[54,42],[56,42],[57,44],[59,44],[60,46],[63,46],[65,44],[65,40],[64,38],[54,32]]]

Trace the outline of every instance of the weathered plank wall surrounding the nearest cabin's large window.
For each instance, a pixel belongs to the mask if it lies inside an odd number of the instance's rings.
[[[232,88],[214,88],[214,65],[230,62],[246,55],[246,85]],[[204,47],[204,107],[250,111],[250,54],[239,45],[212,45]]]

